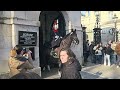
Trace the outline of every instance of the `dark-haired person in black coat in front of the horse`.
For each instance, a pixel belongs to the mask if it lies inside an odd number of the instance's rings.
[[[81,65],[71,49],[62,49],[59,57],[61,60],[60,79],[82,79]]]

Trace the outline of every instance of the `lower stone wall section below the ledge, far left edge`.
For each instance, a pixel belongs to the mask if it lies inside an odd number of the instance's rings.
[[[11,25],[0,24],[0,73],[8,72],[9,51],[12,47]]]

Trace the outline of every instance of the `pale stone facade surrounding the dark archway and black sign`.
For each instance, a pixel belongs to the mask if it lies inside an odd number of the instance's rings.
[[[9,51],[16,44],[19,44],[19,31],[37,33],[36,45],[24,47],[34,48],[34,65],[35,67],[40,67],[40,36],[42,35],[40,34],[41,26],[45,26],[43,24],[45,24],[46,22],[49,22],[50,24],[57,15],[59,16],[59,13],[64,18],[64,27],[66,34],[70,32],[71,28],[77,30],[80,44],[76,47],[72,47],[72,49],[76,53],[79,61],[81,63],[83,62],[83,40],[80,11],[0,11],[0,73],[9,71]],[[42,20],[45,15],[47,15],[46,21]],[[48,27],[49,26],[47,26],[47,29],[49,29]],[[42,32],[49,32],[47,30],[44,31],[45,28],[43,28],[42,30]],[[45,37],[44,35],[42,37]]]

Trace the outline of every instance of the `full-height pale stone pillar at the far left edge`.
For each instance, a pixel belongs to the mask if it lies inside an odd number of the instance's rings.
[[[0,74],[9,71],[8,59],[12,47],[12,25],[10,21],[10,12],[0,11]]]

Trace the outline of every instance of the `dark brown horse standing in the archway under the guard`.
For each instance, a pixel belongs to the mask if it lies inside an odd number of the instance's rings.
[[[50,65],[50,63],[52,63],[52,62],[55,62],[55,63],[59,64],[58,57],[59,57],[60,50],[62,48],[70,48],[72,43],[75,44],[75,45],[79,44],[79,39],[78,39],[77,34],[76,34],[76,29],[72,30],[70,33],[65,35],[60,42],[60,46],[58,46],[58,47],[55,47],[55,48],[50,47],[50,42],[46,42],[44,44],[44,47],[43,47],[44,48],[43,49],[44,50],[43,51],[43,53],[44,53],[43,62],[44,63],[42,65],[42,67],[46,67],[46,66]],[[51,54],[51,51],[53,51],[52,54]],[[57,56],[55,57],[54,55],[57,55]]]

